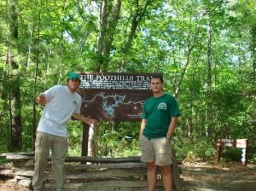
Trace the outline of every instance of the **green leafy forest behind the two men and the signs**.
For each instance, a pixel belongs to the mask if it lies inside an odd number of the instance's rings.
[[[0,0],[0,153],[32,151],[35,97],[67,72],[162,72],[176,96],[178,159],[212,160],[247,138],[256,162],[255,0]],[[83,125],[68,123],[68,155]],[[100,122],[96,155],[136,156],[140,123]],[[225,157],[226,156],[226,157]],[[241,159],[241,149],[224,149]]]

